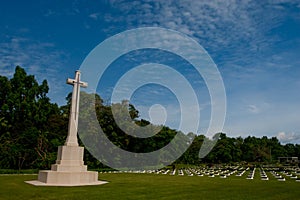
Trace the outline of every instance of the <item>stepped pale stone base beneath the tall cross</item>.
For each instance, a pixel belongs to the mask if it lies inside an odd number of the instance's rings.
[[[44,186],[80,186],[100,185],[98,172],[87,171],[83,163],[84,148],[79,146],[59,146],[56,163],[51,170],[40,170],[38,180],[27,181],[33,185]]]

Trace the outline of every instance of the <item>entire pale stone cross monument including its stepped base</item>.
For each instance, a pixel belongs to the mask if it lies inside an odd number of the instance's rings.
[[[83,162],[84,148],[78,146],[77,127],[80,87],[87,87],[87,83],[80,81],[79,71],[76,71],[75,79],[67,79],[67,83],[73,85],[68,137],[64,146],[58,147],[56,163],[51,166],[51,170],[40,170],[38,180],[26,181],[29,184],[79,186],[106,183],[98,181],[98,172],[87,171],[87,166]]]

